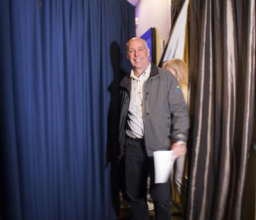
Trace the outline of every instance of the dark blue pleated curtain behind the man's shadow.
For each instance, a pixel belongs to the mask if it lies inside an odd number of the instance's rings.
[[[3,0],[0,33],[1,219],[115,219],[115,94],[134,7]]]

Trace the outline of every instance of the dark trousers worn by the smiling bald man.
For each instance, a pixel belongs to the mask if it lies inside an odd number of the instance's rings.
[[[150,175],[150,196],[154,201],[157,220],[170,220],[170,180],[154,184],[154,159],[147,157],[144,141],[126,139],[125,191],[129,198],[133,219],[148,220],[147,177]]]

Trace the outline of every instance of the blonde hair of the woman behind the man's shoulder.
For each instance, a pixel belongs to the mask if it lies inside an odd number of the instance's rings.
[[[188,86],[188,66],[181,59],[171,59],[163,63],[162,67],[166,70],[172,68],[176,72],[177,81],[180,85]]]

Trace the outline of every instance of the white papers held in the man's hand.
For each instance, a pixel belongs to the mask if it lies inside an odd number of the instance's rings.
[[[175,157],[172,150],[161,150],[153,152],[155,166],[155,184],[167,182],[173,169]]]

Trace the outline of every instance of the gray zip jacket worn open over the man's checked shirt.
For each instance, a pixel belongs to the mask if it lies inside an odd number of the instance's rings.
[[[131,77],[120,83],[119,144],[125,146],[125,127],[130,103]],[[151,64],[150,76],[143,88],[144,140],[147,155],[156,150],[170,150],[172,143],[187,141],[188,109],[182,91],[170,72]]]

